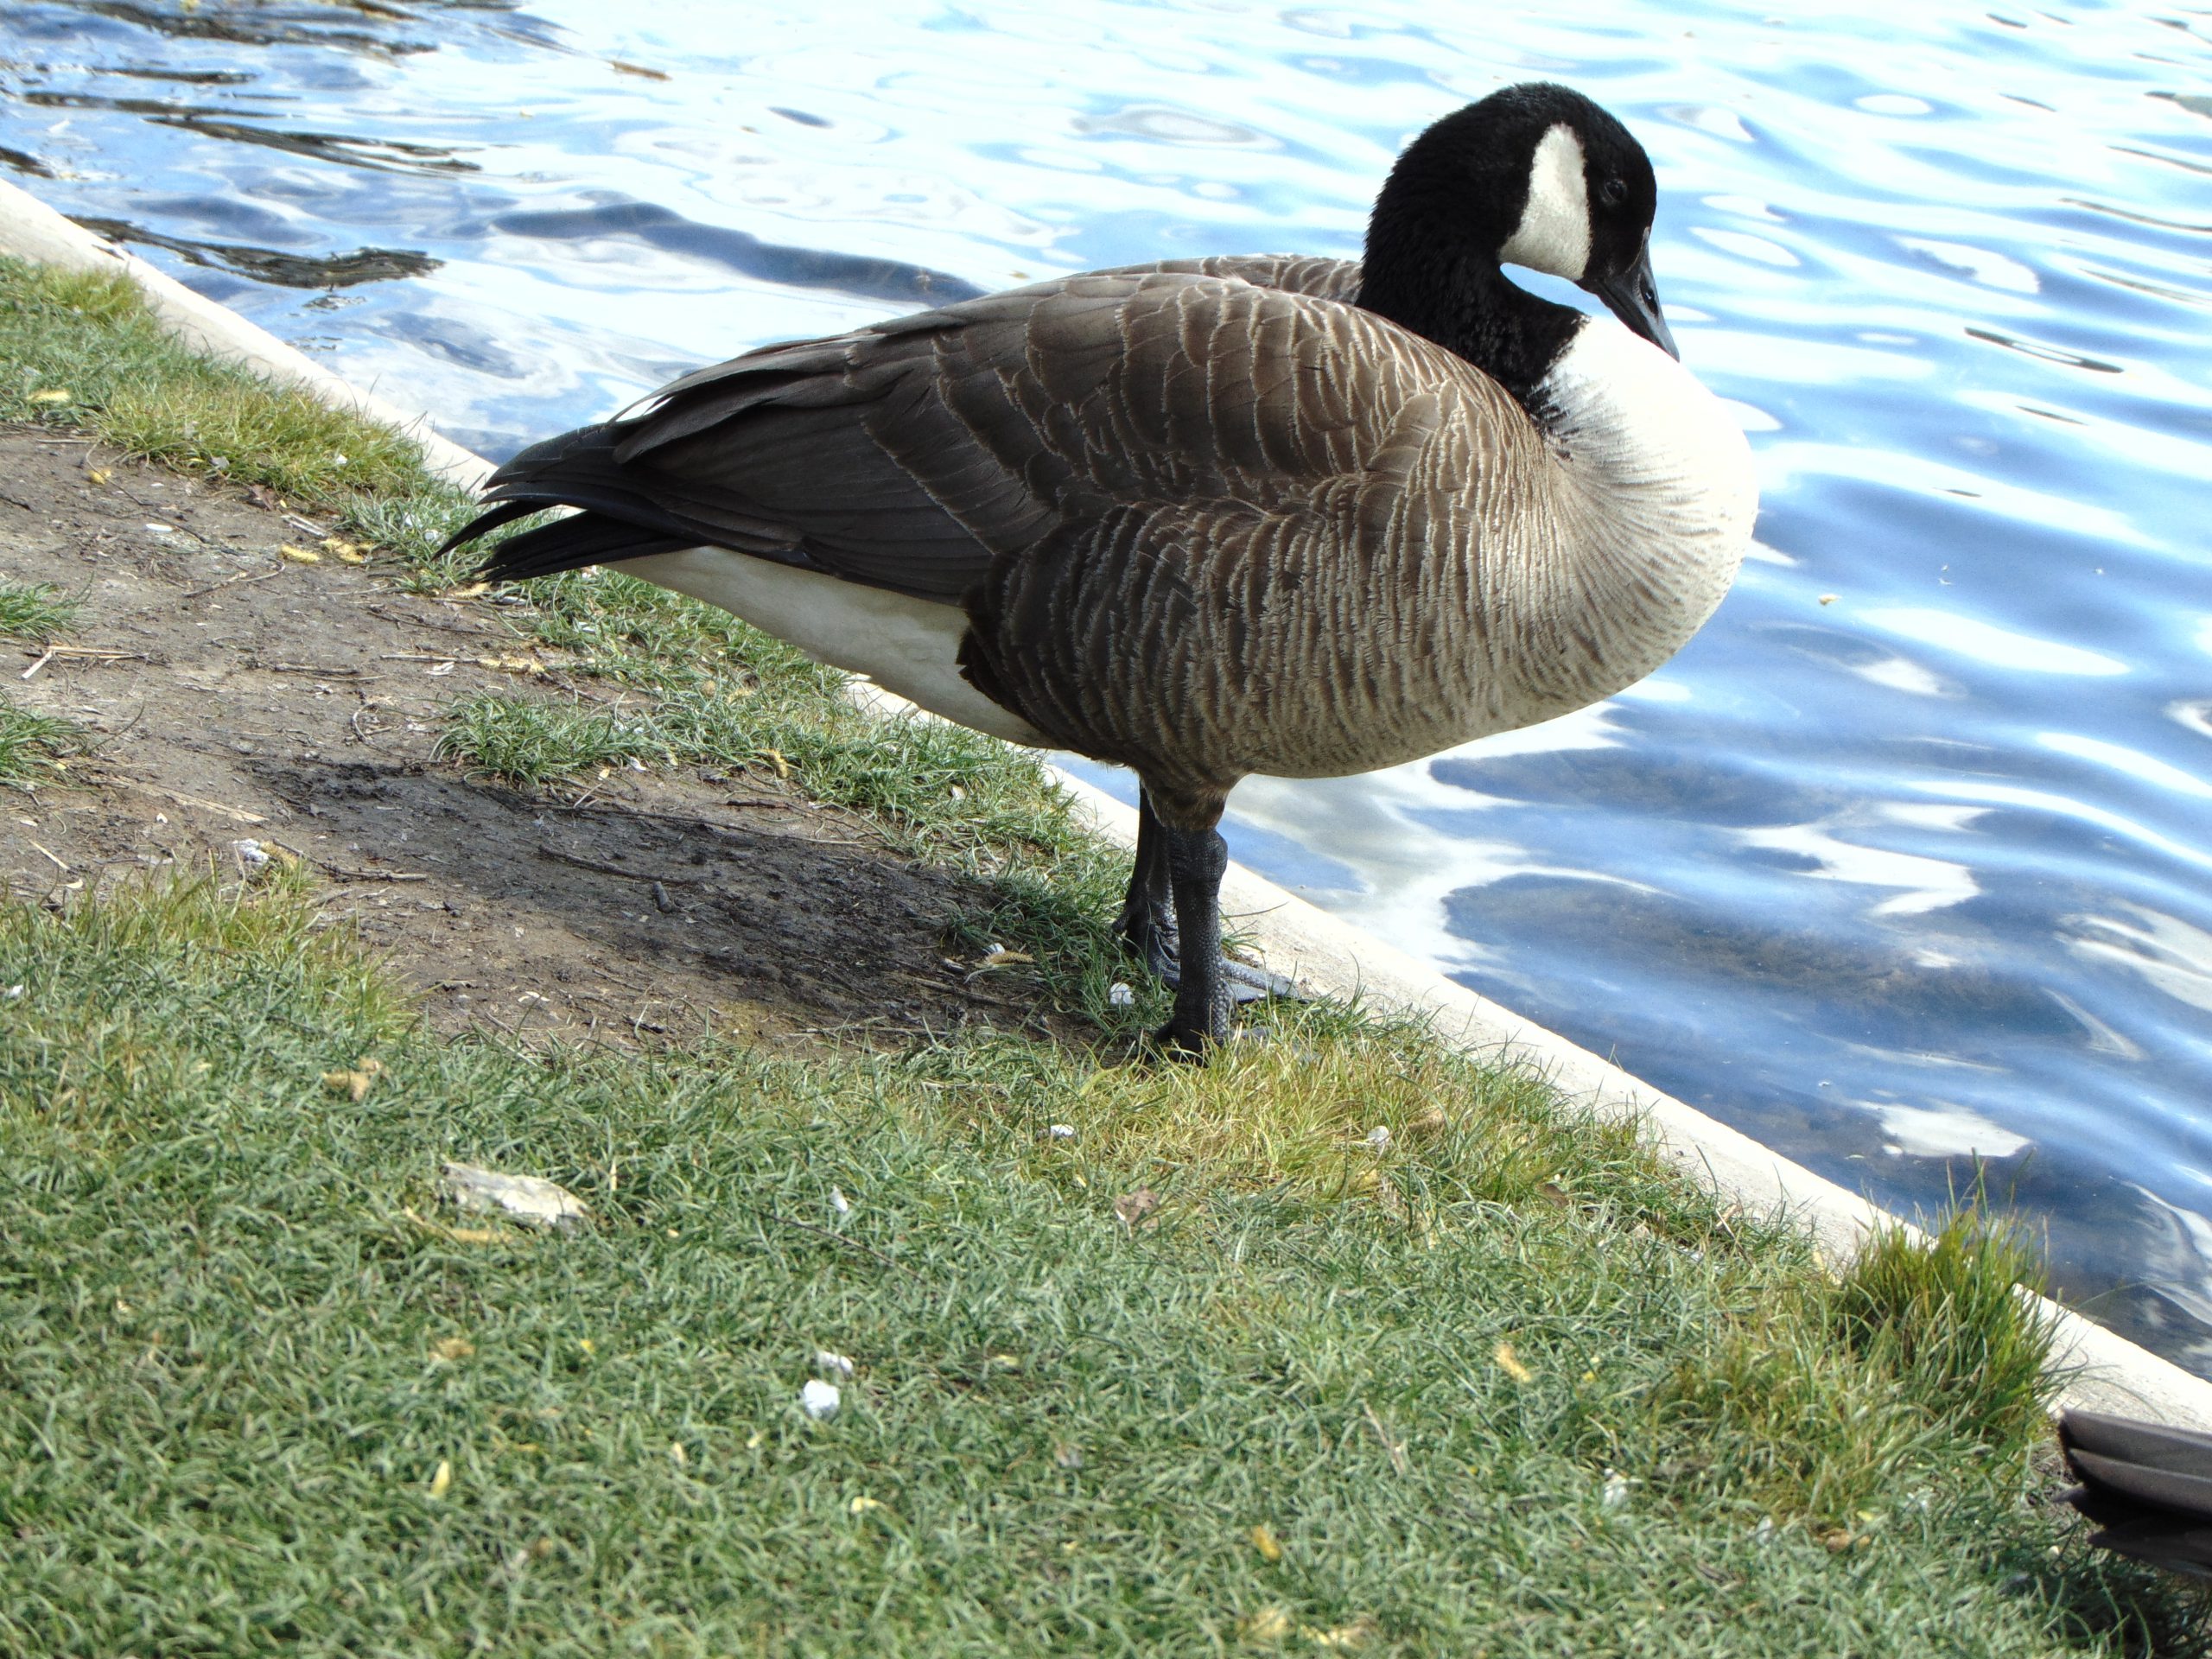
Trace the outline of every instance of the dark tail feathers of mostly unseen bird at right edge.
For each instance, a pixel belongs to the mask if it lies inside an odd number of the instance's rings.
[[[2212,1577],[2212,1433],[2066,1411],[2066,1493],[2101,1531],[2090,1544],[2174,1573]]]

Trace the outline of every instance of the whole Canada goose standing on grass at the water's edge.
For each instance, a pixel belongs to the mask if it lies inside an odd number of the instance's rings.
[[[1566,86],[1407,146],[1365,265],[1062,276],[688,374],[493,473],[482,575],[584,564],[1144,785],[1119,931],[1201,1053],[1232,1000],[1217,832],[1250,772],[1336,776],[1564,714],[1663,664],[1750,538],[1743,434],[1674,361],[1650,159]],[[1520,263],[1621,325],[1544,301]]]

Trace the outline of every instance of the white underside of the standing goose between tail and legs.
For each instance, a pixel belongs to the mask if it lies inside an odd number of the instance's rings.
[[[624,560],[626,575],[641,575],[692,599],[706,599],[754,628],[776,635],[814,661],[867,675],[931,714],[971,726],[1013,743],[1042,745],[1044,732],[1000,708],[960,677],[960,637],[967,613],[956,604],[909,599],[905,593],[838,582],[774,560],[690,546]]]

